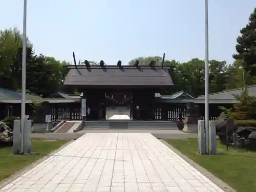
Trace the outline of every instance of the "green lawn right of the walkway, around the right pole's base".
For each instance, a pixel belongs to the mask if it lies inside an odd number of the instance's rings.
[[[238,192],[256,191],[256,152],[232,147],[226,151],[218,141],[218,152],[224,154],[199,155],[197,138],[166,141]]]

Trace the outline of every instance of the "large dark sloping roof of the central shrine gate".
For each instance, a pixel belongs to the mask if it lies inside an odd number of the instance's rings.
[[[78,70],[70,67],[65,78],[66,85],[84,86],[173,86],[169,68],[148,66],[79,66]]]

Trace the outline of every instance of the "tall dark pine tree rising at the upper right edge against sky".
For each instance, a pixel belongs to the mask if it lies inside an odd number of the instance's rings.
[[[256,75],[256,8],[249,17],[249,23],[240,33],[237,38],[237,54],[234,54],[233,58],[242,60],[244,70]]]

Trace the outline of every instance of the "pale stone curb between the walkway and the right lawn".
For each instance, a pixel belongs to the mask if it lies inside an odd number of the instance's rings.
[[[189,163],[191,166],[196,168],[201,174],[203,174],[206,178],[208,178],[211,182],[215,183],[218,187],[220,187],[225,192],[237,192],[232,187],[224,183],[219,178],[215,177],[213,174],[211,174],[207,169],[203,168],[199,164],[197,164],[195,161],[191,160],[189,157],[182,154],[180,151],[178,151],[176,148],[174,148],[172,145],[167,143],[165,140],[160,139],[160,141],[165,144],[167,147],[170,148],[170,150],[174,151],[177,155],[179,155],[182,159],[184,159],[187,163]]]

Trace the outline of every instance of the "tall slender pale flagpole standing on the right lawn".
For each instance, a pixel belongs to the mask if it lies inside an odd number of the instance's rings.
[[[208,46],[208,0],[205,0],[205,112],[204,125],[206,137],[206,153],[209,153],[209,46]]]

